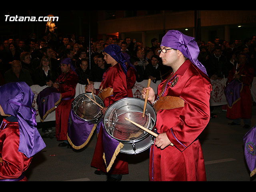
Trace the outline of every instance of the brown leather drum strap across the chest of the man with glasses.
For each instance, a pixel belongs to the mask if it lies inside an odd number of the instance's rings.
[[[153,105],[156,112],[160,109],[174,109],[184,107],[184,100],[180,97],[161,96]]]

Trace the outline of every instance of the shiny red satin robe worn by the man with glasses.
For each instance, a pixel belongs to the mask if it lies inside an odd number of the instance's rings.
[[[157,132],[166,132],[174,146],[163,150],[155,145],[151,147],[150,180],[204,181],[204,157],[198,136],[210,120],[212,85],[208,76],[190,60],[186,60],[172,77],[162,96],[180,97],[184,100],[184,107],[157,112]],[[159,94],[165,89],[164,82],[166,80],[158,86]]]

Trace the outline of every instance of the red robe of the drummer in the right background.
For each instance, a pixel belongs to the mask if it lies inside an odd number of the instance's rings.
[[[228,76],[228,83],[234,79],[236,73],[236,66],[230,71]],[[232,108],[227,108],[226,117],[229,119],[250,119],[252,118],[252,95],[250,85],[254,78],[254,68],[248,64],[238,67],[238,73],[241,75],[240,81],[243,84],[240,92],[240,100],[233,104]]]

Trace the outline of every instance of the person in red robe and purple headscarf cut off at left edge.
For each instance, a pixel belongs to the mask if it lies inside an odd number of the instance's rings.
[[[27,181],[32,157],[46,147],[36,128],[34,94],[25,82],[0,87],[0,181]]]

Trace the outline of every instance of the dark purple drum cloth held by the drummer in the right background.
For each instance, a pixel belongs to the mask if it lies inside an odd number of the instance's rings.
[[[239,80],[232,80],[225,88],[227,104],[229,108],[232,108],[238,100],[240,100],[240,93],[243,89],[243,84]]]

